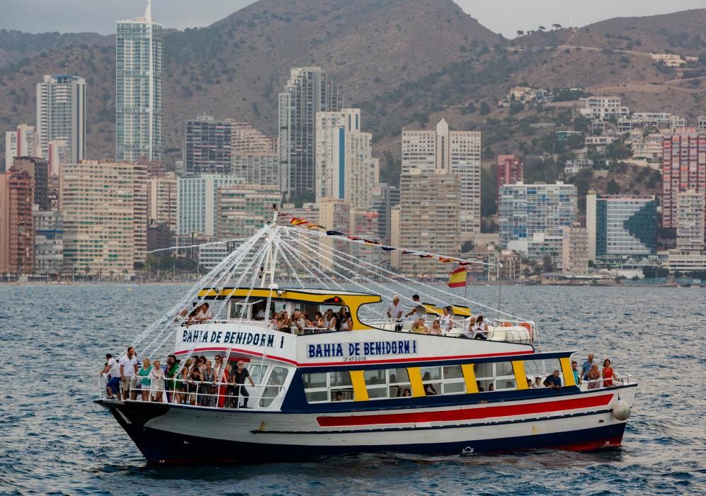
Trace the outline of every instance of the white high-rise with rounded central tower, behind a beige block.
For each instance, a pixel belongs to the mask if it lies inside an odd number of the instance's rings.
[[[448,170],[458,176],[456,235],[465,240],[480,232],[481,133],[450,131],[445,119],[433,131],[402,130],[402,174],[416,169]]]

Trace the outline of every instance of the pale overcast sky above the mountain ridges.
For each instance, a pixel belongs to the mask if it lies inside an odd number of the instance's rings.
[[[355,0],[351,0],[355,1]],[[487,28],[508,38],[518,29],[559,23],[585,26],[613,17],[650,16],[703,9],[706,0],[456,0]],[[154,19],[165,28],[208,26],[253,0],[153,0]],[[147,0],[0,0],[0,28],[30,33],[115,32],[118,18],[142,15]]]

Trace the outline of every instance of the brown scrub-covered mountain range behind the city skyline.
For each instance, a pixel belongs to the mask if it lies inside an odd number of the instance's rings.
[[[450,0],[261,0],[206,28],[166,30],[166,159],[181,155],[183,120],[204,111],[276,135],[277,94],[290,67],[309,65],[328,70],[345,104],[363,109],[393,181],[402,127],[431,128],[442,116],[482,131],[488,159],[518,148],[541,154],[552,130],[531,124],[568,122],[571,109],[497,106],[518,84],[618,94],[637,110],[693,122],[706,115],[706,68],[661,67],[649,52],[700,55],[705,20],[706,9],[617,18],[509,41]],[[1,57],[0,130],[34,122],[42,74],[77,74],[88,86],[89,157],[114,156],[114,37],[0,32]]]

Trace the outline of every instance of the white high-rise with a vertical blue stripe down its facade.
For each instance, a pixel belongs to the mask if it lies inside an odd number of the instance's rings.
[[[317,202],[337,198],[370,208],[380,166],[372,158],[372,135],[360,132],[360,109],[317,113],[316,136]]]

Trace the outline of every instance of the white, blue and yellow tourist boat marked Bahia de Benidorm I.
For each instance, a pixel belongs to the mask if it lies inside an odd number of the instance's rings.
[[[620,446],[637,388],[629,377],[608,387],[577,385],[573,350],[540,351],[535,322],[503,312],[491,321],[487,339],[462,339],[470,316],[484,308],[480,303],[358,258],[346,248],[356,243],[360,239],[340,232],[275,220],[136,337],[140,356],[163,363],[172,353],[181,364],[197,355],[222,356],[233,368],[244,361],[255,383],[244,386],[247,407],[233,390],[204,385],[191,397],[195,405],[177,404],[178,381],[172,402],[108,399],[103,382],[98,404],[155,463]],[[276,283],[280,276],[297,281],[304,274],[319,287]],[[442,335],[410,332],[409,324],[385,315],[393,293],[403,303],[421,295],[426,303],[416,310],[428,321],[452,305],[456,327]],[[210,303],[214,318],[188,324],[180,311],[194,302]],[[351,329],[304,326],[289,333],[262,320],[275,310],[311,316],[341,308],[350,313]],[[555,369],[562,387],[530,387]],[[200,405],[204,398],[212,406]]]

